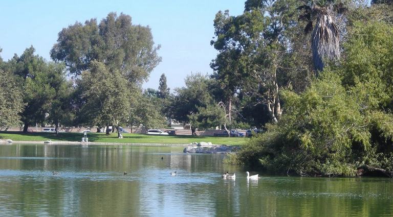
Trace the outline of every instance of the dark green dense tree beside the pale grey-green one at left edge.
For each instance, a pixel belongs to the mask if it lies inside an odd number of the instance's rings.
[[[72,119],[67,103],[72,87],[65,79],[63,65],[49,63],[34,52],[31,46],[20,57],[15,55],[3,66],[5,71],[16,77],[17,83],[14,84],[23,90],[19,96],[23,97],[25,105],[20,111],[24,132],[28,131],[29,125],[52,123],[58,126],[59,122],[67,123]]]

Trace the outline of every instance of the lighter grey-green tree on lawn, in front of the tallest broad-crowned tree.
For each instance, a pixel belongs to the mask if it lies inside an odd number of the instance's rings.
[[[115,126],[118,137],[122,138],[119,127],[129,121],[130,90],[127,80],[119,71],[112,71],[100,62],[92,61],[91,69],[83,71],[78,88],[84,104],[81,115],[89,117],[89,123]],[[107,134],[109,132],[107,131]]]

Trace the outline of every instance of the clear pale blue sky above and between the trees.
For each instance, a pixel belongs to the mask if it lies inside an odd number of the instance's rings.
[[[186,75],[212,73],[209,64],[217,52],[210,45],[213,19],[219,10],[231,15],[244,10],[245,0],[0,0],[0,54],[7,61],[33,45],[36,54],[50,60],[49,51],[62,28],[75,21],[101,20],[109,12],[130,15],[134,24],[149,26],[161,44],[162,62],[144,88],[158,88],[162,73],[168,86],[181,87]]]

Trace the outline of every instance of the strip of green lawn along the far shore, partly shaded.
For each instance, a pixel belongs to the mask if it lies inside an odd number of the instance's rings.
[[[146,134],[123,133],[124,138],[118,139],[117,133],[105,135],[105,133],[88,133],[91,142],[119,142],[119,143],[162,143],[162,144],[187,144],[191,142],[211,142],[213,144],[241,145],[247,138],[213,137],[213,136],[155,136]],[[0,131],[0,139],[12,139],[13,141],[81,141],[82,133],[21,133]]]

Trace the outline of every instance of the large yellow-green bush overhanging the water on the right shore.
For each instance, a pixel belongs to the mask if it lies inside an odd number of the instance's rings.
[[[393,28],[355,23],[341,64],[303,93],[282,93],[286,111],[227,161],[300,176],[392,176]]]

